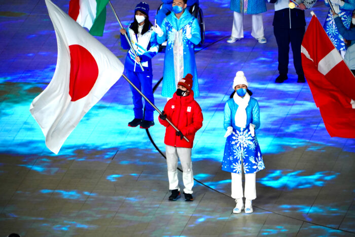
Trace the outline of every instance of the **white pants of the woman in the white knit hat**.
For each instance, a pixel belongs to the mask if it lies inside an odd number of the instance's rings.
[[[241,182],[241,173],[231,173],[232,174],[232,198],[238,199],[243,197],[243,186]],[[257,190],[255,187],[255,178],[257,173],[244,174],[245,185],[244,185],[244,197],[249,200],[254,200],[257,198]]]

